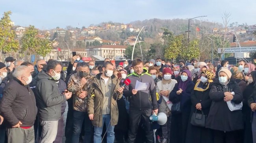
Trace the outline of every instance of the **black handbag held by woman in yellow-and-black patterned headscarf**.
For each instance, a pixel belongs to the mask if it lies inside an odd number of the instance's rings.
[[[202,110],[201,113],[198,113],[197,111],[198,110],[192,114],[190,123],[197,127],[205,127],[206,115],[204,115]]]

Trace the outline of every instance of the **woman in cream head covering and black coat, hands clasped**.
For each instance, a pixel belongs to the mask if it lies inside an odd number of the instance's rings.
[[[239,104],[243,95],[228,69],[221,69],[218,76],[219,80],[213,83],[209,94],[212,103],[206,128],[213,130],[214,143],[239,143],[237,133],[243,129],[242,110],[231,111],[227,102]]]

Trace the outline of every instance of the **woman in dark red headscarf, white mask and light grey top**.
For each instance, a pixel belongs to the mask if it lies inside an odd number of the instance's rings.
[[[174,85],[177,83],[176,80],[171,79],[172,71],[169,68],[163,69],[163,79],[159,81],[156,86],[156,92],[161,96],[161,103],[158,105],[159,112],[164,112],[167,115],[167,122],[162,125],[163,141],[167,143],[169,139],[169,133],[171,129],[171,107],[172,103],[169,101],[169,94],[173,90]]]

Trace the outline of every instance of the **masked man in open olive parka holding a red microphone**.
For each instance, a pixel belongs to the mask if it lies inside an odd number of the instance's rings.
[[[105,123],[107,143],[115,140],[114,127],[118,122],[117,100],[122,98],[124,87],[120,87],[120,80],[113,75],[114,66],[111,62],[105,62],[103,72],[97,74],[90,87],[88,95],[88,116],[94,126],[94,143],[102,142],[102,129]],[[103,133],[105,134],[105,133]]]

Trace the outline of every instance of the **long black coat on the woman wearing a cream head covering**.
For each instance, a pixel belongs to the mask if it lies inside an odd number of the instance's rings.
[[[242,110],[230,111],[224,101],[224,92],[235,92],[233,102],[238,104],[243,100],[243,95],[238,84],[230,80],[228,85],[215,81],[211,86],[210,99],[212,100],[210,112],[206,120],[206,128],[221,131],[234,131],[243,129]]]

